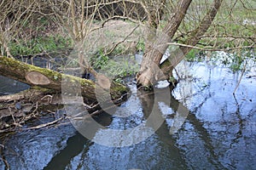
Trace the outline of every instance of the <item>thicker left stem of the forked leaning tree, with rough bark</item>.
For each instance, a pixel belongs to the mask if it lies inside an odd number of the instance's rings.
[[[140,71],[137,74],[137,84],[144,87],[153,85],[159,79],[163,79],[164,75],[160,71],[160,59],[165,54],[168,48],[167,42],[171,42],[172,37],[177,31],[178,26],[181,24],[187,9],[189,8],[192,0],[182,0],[177,5],[175,14],[168,20],[168,23],[164,27],[163,31],[157,35],[155,21],[148,20],[149,36],[146,42],[145,54],[143,55],[143,62],[141,64]],[[154,23],[152,23],[154,21]],[[154,31],[152,31],[152,29]]]

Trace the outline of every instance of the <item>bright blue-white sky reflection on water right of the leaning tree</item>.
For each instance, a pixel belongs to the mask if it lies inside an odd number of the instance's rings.
[[[256,156],[256,79],[244,75],[234,97],[233,92],[241,71],[233,74],[230,69],[207,66],[204,63],[192,63],[189,68],[193,81],[181,81],[173,94],[177,99],[186,97],[183,100],[185,105],[207,131],[196,133],[191,121],[187,120],[184,130],[177,134],[177,143],[183,145],[181,149],[185,150],[186,160],[193,165],[198,160],[194,160],[192,156],[210,162],[215,156],[218,162],[214,162],[215,159],[212,164],[222,164],[221,168],[252,169],[256,165],[253,161]],[[190,89],[183,90],[184,87]],[[207,135],[208,141],[201,144],[200,135],[201,139]],[[197,148],[198,152],[191,151],[191,148]],[[210,155],[205,154],[205,149],[209,150]]]

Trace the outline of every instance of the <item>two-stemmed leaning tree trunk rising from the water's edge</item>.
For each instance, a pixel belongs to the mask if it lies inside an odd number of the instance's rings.
[[[195,46],[201,39],[208,28],[212,25],[218,9],[221,6],[223,0],[214,0],[212,8],[210,8],[201,20],[200,25],[192,32],[193,37],[190,37],[186,41],[188,47],[180,47],[173,54],[169,56],[163,63],[160,64],[163,54],[166,53],[168,43],[172,41],[172,37],[175,35],[178,26],[183,20],[187,9],[189,8],[192,0],[180,1],[176,13],[173,14],[171,20],[168,21],[166,27],[163,29],[162,34],[159,37],[155,36],[155,41],[147,43],[146,53],[143,55],[143,62],[141,69],[137,74],[137,84],[144,87],[152,86],[160,80],[169,81],[172,77],[172,71],[174,67],[184,59],[185,55],[192,49],[191,46]]]

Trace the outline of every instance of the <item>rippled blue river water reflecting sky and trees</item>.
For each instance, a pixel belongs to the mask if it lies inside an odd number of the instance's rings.
[[[241,77],[241,71],[183,61],[177,73],[177,88],[169,89],[161,82],[154,94],[137,91],[130,82],[131,97],[113,116],[96,116],[96,122],[107,129],[96,130],[92,140],[84,138],[71,123],[24,130],[0,141],[5,145],[2,156],[11,169],[255,169],[255,70]],[[0,82],[3,84],[2,78]],[[0,89],[2,94],[15,93],[7,87]],[[122,116],[124,111],[129,116]],[[31,123],[55,119],[63,112]],[[122,140],[104,133],[108,129],[135,129],[147,123],[150,115],[163,120],[157,130],[129,131],[132,135],[127,133]],[[117,141],[119,145],[114,145]],[[4,168],[0,160],[0,169]]]

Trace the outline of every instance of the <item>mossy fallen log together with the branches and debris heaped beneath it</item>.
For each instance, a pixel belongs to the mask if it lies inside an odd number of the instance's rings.
[[[102,74],[96,75],[93,82],[3,56],[0,56],[0,75],[31,86],[18,94],[0,96],[0,133],[20,128],[39,112],[54,112],[63,108],[63,104],[79,102],[94,116],[101,113],[102,103],[119,105],[129,92],[124,85]]]

